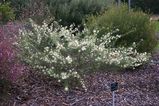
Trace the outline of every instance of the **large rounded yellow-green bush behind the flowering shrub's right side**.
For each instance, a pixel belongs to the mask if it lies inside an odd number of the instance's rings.
[[[137,51],[151,52],[156,46],[155,26],[149,15],[142,11],[128,11],[128,7],[112,7],[99,16],[90,16],[87,26],[90,30],[100,29],[99,36],[110,30],[119,29],[118,35],[122,37],[116,46],[130,46],[137,43]]]

